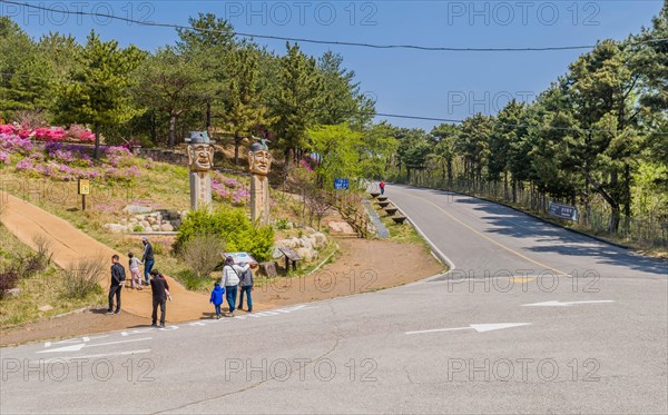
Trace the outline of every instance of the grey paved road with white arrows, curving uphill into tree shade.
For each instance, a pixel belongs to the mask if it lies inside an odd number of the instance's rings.
[[[665,263],[493,204],[387,190],[452,271],[253,317],[3,348],[0,413],[668,412]],[[351,280],[364,276],[336,283]]]

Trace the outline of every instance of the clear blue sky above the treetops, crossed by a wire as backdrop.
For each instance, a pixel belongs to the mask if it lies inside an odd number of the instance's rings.
[[[39,1],[48,8],[187,24],[189,16],[214,12],[238,32],[379,45],[432,47],[557,47],[623,39],[650,26],[661,0],[629,1]],[[30,36],[49,31],[80,40],[95,28],[105,39],[154,50],[173,43],[170,28],[104,18],[65,17],[0,3]],[[262,40],[279,53],[285,42]],[[463,119],[495,113],[511,97],[531,100],[583,51],[428,52],[302,45],[310,55],[331,49],[344,57],[379,112]],[[439,122],[391,118],[402,127],[431,129]]]

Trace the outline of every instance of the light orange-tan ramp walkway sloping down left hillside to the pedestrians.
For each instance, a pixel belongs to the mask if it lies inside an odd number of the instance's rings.
[[[120,257],[120,264],[126,267],[128,278],[126,284],[129,285],[130,273],[127,267],[128,258],[125,255],[97,241],[56,215],[4,191],[0,191],[0,206],[4,207],[1,220],[7,229],[33,249],[36,248],[35,238],[37,236],[46,238],[50,245],[50,250],[53,253],[53,263],[59,267],[67,268],[75,266],[81,259],[95,257],[105,258],[111,267],[111,256],[116,254]],[[159,269],[159,257],[156,263],[156,268]],[[194,320],[212,313],[213,307],[208,303],[208,296],[188,292],[173,278],[166,277],[169,283],[169,292],[174,298],[174,302],[167,303],[168,323]],[[105,273],[100,280],[100,285],[105,290],[109,288],[109,278],[110,273]],[[121,309],[126,313],[150,318],[150,289],[141,292],[124,289]]]

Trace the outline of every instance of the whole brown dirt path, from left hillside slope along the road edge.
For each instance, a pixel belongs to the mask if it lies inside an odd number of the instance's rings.
[[[0,194],[7,206],[2,223],[22,243],[35,248],[33,237],[47,237],[53,260],[60,267],[76,264],[81,253],[106,258],[118,254],[71,224],[10,195]],[[334,298],[395,287],[420,280],[443,270],[421,245],[387,240],[338,239],[336,260],[306,277],[277,278],[272,283],[257,278],[253,292],[254,310]],[[120,254],[119,254],[120,255]],[[324,258],[323,258],[324,259]],[[158,258],[159,260],[159,258]],[[121,256],[121,263],[127,258]],[[108,279],[100,281],[108,287]],[[167,304],[167,323],[213,317],[208,296],[186,290],[169,278],[174,302]],[[106,316],[105,308],[88,309],[67,316],[0,329],[0,346],[80,336],[92,333],[141,327],[150,324],[150,290],[122,293],[122,313]],[[245,302],[244,302],[245,303]],[[240,312],[244,313],[244,312]]]

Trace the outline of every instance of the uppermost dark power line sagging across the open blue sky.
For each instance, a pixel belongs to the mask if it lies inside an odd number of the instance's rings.
[[[119,21],[125,21],[128,23],[135,23],[135,24],[139,24],[139,26],[183,29],[183,30],[193,30],[193,31],[200,31],[200,32],[207,32],[207,33],[227,34],[227,32],[224,32],[222,30],[194,28],[191,26],[183,26],[183,24],[175,24],[175,23],[141,21],[141,20],[125,18],[121,16],[114,16],[114,14],[106,14],[106,13],[73,11],[73,10],[58,10],[58,9],[51,9],[51,8],[48,8],[45,6],[35,6],[35,4],[29,4],[29,3],[18,2],[18,1],[10,1],[10,0],[0,0],[0,2],[13,4],[13,6],[23,6],[23,7],[31,8],[31,9],[49,11],[49,12],[57,12],[57,13],[62,13],[62,14],[90,16],[90,17],[99,17],[99,18],[119,20]],[[376,45],[376,43],[365,43],[365,42],[348,42],[348,41],[336,41],[336,40],[293,38],[293,37],[283,37],[283,36],[272,36],[272,34],[244,33],[244,32],[236,32],[236,31],[230,31],[230,33],[233,36],[238,36],[238,37],[243,37],[243,38],[285,40],[285,41],[294,41],[294,42],[302,42],[302,43],[350,46],[350,47],[371,48],[371,49],[412,49],[412,50],[441,51],[441,52],[536,52],[536,51],[582,50],[582,49],[596,48],[596,45],[542,47],[542,48],[453,48],[453,47],[428,47],[428,46],[419,46],[419,45]],[[649,40],[635,42],[633,45],[665,42],[665,41],[668,41],[668,38],[649,39]]]

